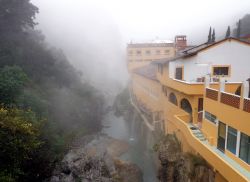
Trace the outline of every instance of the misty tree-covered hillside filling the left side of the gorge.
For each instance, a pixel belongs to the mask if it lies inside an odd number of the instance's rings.
[[[0,181],[43,181],[75,137],[99,131],[102,95],[34,30],[29,0],[0,1]]]

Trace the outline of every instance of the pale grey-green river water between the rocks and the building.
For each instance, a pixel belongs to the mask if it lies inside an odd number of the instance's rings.
[[[109,112],[103,120],[103,126],[102,133],[128,142],[129,150],[120,158],[137,164],[143,172],[144,182],[157,182],[154,139],[144,122],[135,119],[126,122],[122,117]]]

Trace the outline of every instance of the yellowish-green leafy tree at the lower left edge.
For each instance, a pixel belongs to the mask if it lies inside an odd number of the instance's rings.
[[[34,118],[31,111],[0,108],[0,179],[18,181],[23,165],[41,145]]]

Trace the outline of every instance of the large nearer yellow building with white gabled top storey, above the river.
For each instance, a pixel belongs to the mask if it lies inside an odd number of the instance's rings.
[[[250,181],[249,57],[249,43],[227,38],[129,67],[138,103],[159,112],[165,132],[201,155],[216,181]]]

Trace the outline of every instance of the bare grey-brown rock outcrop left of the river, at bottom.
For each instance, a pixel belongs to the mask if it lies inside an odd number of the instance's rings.
[[[89,137],[88,137],[89,140]],[[128,149],[126,142],[92,136],[85,146],[72,149],[53,172],[51,182],[141,182],[140,169],[117,159]]]

